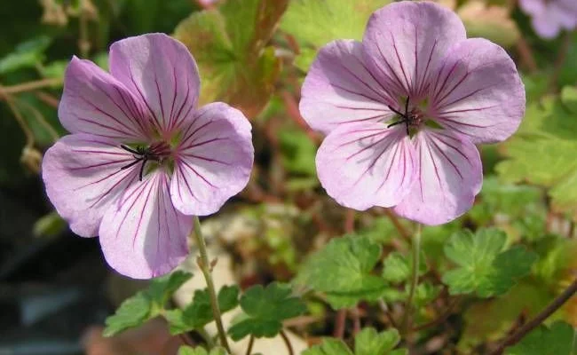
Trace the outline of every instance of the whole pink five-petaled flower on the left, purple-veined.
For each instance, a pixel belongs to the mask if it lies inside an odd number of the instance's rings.
[[[44,155],[43,180],[75,233],[99,235],[108,264],[147,279],[188,254],[190,215],[216,212],[248,183],[251,128],[224,103],[196,106],[196,63],[169,36],[114,43],[110,72],[68,65],[59,120],[72,134]]]

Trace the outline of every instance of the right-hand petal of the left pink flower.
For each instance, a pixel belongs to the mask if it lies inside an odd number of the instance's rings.
[[[170,196],[180,212],[205,216],[248,184],[251,127],[241,111],[220,102],[203,106],[191,122],[177,148]]]

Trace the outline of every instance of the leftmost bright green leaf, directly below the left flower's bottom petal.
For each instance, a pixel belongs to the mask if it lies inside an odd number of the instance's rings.
[[[170,297],[193,275],[188,272],[176,271],[151,281],[150,286],[136,295],[126,299],[108,317],[105,336],[112,336],[130,327],[138,327],[146,320],[159,315]]]

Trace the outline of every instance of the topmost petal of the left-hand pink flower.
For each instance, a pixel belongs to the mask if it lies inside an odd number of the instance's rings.
[[[194,110],[201,83],[183,43],[164,34],[130,37],[112,44],[109,60],[112,75],[146,103],[167,136]]]

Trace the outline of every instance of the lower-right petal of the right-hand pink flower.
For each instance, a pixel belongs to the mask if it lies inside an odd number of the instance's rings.
[[[448,130],[422,130],[414,139],[419,177],[394,210],[424,225],[452,221],[470,209],[483,184],[477,147]]]

